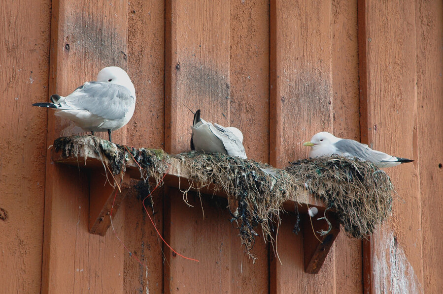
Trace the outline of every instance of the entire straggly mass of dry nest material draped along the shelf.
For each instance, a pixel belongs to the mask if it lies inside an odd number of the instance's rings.
[[[189,189],[200,191],[210,186],[214,193],[228,195],[231,221],[237,223],[241,243],[253,259],[257,226],[264,240],[272,242],[283,203],[298,203],[297,195],[306,190],[324,201],[327,210],[336,212],[347,234],[357,238],[371,235],[391,211],[394,187],[390,178],[369,162],[334,156],[296,161],[280,170],[235,156],[196,151],[169,155],[161,149],[120,146],[94,136],[59,138],[54,149],[63,156],[78,158],[85,145],[113,175],[125,172],[128,165],[134,167],[136,162],[140,178],[146,181],[153,177],[157,183],[170,170],[172,159],[178,159],[189,170]],[[184,191],[185,202],[189,189]],[[318,218],[324,219],[323,213]]]

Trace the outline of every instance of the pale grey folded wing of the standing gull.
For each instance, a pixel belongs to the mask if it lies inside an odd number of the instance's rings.
[[[128,88],[103,82],[86,82],[66,96],[59,109],[87,110],[105,119],[120,119],[134,107]]]

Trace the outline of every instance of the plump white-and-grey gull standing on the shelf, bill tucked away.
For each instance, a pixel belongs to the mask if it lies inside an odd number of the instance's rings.
[[[51,101],[33,106],[54,108],[56,116],[72,120],[92,135],[107,131],[111,141],[111,132],[134,114],[136,89],[123,69],[109,66],[99,72],[97,81],[86,82],[66,97],[54,94]]]

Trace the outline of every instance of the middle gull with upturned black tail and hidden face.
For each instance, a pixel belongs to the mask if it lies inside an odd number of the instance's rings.
[[[206,153],[222,153],[246,159],[243,147],[243,134],[238,128],[223,127],[200,118],[200,109],[194,114],[191,126],[191,150]]]

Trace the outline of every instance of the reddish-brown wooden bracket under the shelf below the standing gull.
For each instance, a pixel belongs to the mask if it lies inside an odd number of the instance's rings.
[[[104,175],[103,169],[90,170],[89,176],[89,233],[104,236],[111,225],[111,213],[114,216],[120,207],[126,193],[123,189],[128,187],[130,177],[122,172],[114,176]]]

